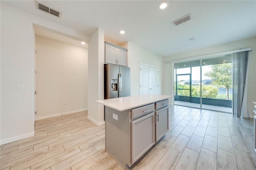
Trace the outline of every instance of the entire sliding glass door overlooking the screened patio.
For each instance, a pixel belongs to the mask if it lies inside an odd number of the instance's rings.
[[[174,63],[174,104],[232,112],[231,54]]]

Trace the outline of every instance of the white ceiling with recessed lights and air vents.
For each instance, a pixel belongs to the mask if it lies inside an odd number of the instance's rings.
[[[38,2],[62,12],[61,17],[37,10],[35,1],[1,0],[88,35],[102,28],[105,41],[118,45],[129,41],[163,57],[256,36],[255,0],[168,1],[164,10],[160,10],[159,0]],[[186,14],[191,14],[190,21],[178,26],[172,24]],[[121,35],[120,30],[126,33]],[[193,37],[196,40],[189,41]]]

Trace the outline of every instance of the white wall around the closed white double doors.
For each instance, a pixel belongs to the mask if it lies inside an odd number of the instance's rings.
[[[131,70],[131,96],[140,95],[140,63],[158,67],[158,93],[162,94],[162,56],[156,55],[131,42],[121,46],[128,49],[128,67]]]

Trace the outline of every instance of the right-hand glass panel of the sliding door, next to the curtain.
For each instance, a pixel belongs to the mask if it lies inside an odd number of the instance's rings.
[[[211,82],[202,89],[202,109],[232,112],[231,54],[202,59],[202,75]],[[208,93],[204,93],[204,92]],[[215,110],[216,110],[215,109]]]

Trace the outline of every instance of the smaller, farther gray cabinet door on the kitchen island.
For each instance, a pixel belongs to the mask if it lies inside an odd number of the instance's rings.
[[[156,111],[156,142],[169,131],[169,107]]]

